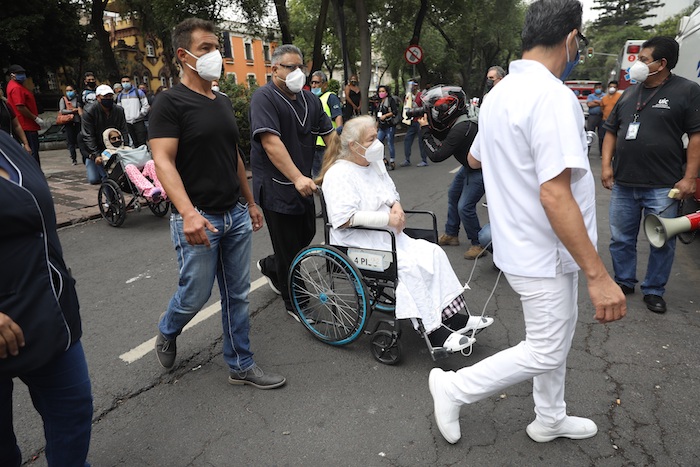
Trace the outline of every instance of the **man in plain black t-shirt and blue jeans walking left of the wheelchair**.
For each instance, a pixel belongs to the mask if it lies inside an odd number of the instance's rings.
[[[209,299],[216,277],[229,383],[280,387],[285,378],[264,373],[250,350],[251,237],[263,219],[238,152],[231,101],[211,90],[222,65],[216,30],[209,21],[190,18],[175,27],[172,42],[182,83],[153,106],[150,143],[173,204],[170,227],[180,280],[158,323],[156,356],[163,367],[173,367],[176,338]]]

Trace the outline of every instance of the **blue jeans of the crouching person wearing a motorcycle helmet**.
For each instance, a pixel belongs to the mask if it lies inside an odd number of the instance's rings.
[[[465,167],[459,169],[452,185],[447,190],[447,222],[445,233],[453,237],[459,235],[459,222],[467,233],[472,245],[479,244],[479,218],[476,215],[476,203],[484,196],[484,177],[480,170],[468,172]]]

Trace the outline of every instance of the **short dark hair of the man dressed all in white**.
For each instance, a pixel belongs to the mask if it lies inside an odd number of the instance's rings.
[[[581,30],[583,7],[578,0],[538,0],[525,15],[521,35],[523,51],[554,47],[572,30]]]

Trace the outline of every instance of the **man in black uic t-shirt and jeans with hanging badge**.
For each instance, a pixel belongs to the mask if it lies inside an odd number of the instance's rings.
[[[610,254],[615,281],[628,295],[637,283],[637,234],[642,214],[678,215],[678,200],[695,193],[700,168],[700,86],[671,70],[678,43],[654,37],[642,45],[630,75],[640,82],[625,91],[604,123],[601,179],[610,198]],[[688,134],[687,154],[683,134]],[[684,169],[685,164],[685,169]],[[675,188],[678,193],[669,197]],[[641,289],[650,311],[666,312],[675,237],[650,247]]]

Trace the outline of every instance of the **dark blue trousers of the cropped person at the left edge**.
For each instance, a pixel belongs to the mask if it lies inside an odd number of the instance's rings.
[[[21,350],[20,350],[21,352]],[[42,368],[19,377],[44,422],[49,465],[89,466],[92,391],[80,341]],[[22,455],[12,428],[11,378],[0,378],[0,465],[19,466]]]

